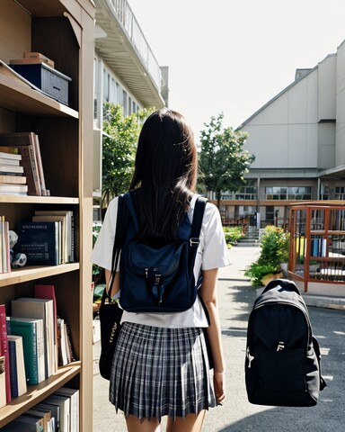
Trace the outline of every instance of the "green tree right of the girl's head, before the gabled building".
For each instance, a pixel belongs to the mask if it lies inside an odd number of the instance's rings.
[[[216,193],[219,207],[222,192],[236,192],[245,184],[243,174],[255,159],[243,150],[248,134],[233,128],[223,128],[224,114],[211,117],[206,130],[200,132],[199,182]]]

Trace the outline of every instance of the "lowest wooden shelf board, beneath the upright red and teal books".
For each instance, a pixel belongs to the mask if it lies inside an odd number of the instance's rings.
[[[49,377],[38,385],[28,386],[28,392],[13,399],[9,404],[0,409],[0,428],[15,419],[24,411],[42,401],[51,392],[56,391],[62,385],[68,383],[76,374],[80,374],[81,362],[74,362],[58,369],[57,374]]]

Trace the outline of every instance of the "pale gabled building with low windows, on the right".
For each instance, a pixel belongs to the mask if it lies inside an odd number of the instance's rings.
[[[225,193],[226,223],[288,226],[293,202],[345,198],[345,41],[237,128],[255,155],[247,184]]]

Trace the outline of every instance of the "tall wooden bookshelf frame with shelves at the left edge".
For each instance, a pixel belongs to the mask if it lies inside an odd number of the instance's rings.
[[[92,175],[93,33],[91,0],[2,0],[0,60],[9,64],[24,52],[42,52],[56,69],[72,78],[68,105],[42,94],[0,67],[0,132],[33,131],[50,196],[0,194],[0,214],[10,229],[30,220],[36,210],[71,210],[75,218],[75,262],[26,266],[0,275],[0,303],[33,296],[35,284],[54,284],[57,313],[71,333],[77,361],[0,409],[0,428],[43,401],[63,385],[80,391],[80,430],[93,430],[92,322]]]

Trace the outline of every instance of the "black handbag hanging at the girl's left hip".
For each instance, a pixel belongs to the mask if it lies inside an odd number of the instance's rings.
[[[118,302],[112,302],[109,299],[105,289],[99,313],[101,322],[100,374],[106,380],[110,380],[112,359],[121,329],[119,321],[122,317],[122,309],[119,308]]]

